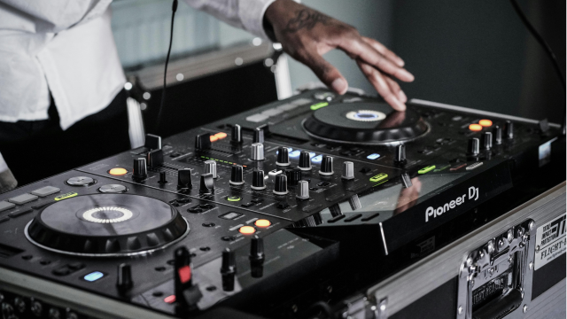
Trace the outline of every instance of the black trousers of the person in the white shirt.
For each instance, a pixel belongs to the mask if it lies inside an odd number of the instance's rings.
[[[130,148],[125,90],[99,113],[62,130],[51,99],[49,120],[0,121],[0,153],[18,180],[32,183]]]

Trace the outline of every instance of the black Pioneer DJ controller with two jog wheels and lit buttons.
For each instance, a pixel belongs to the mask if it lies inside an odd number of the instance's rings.
[[[326,89],[147,135],[0,195],[2,314],[334,317],[563,181],[564,146],[547,121]]]

